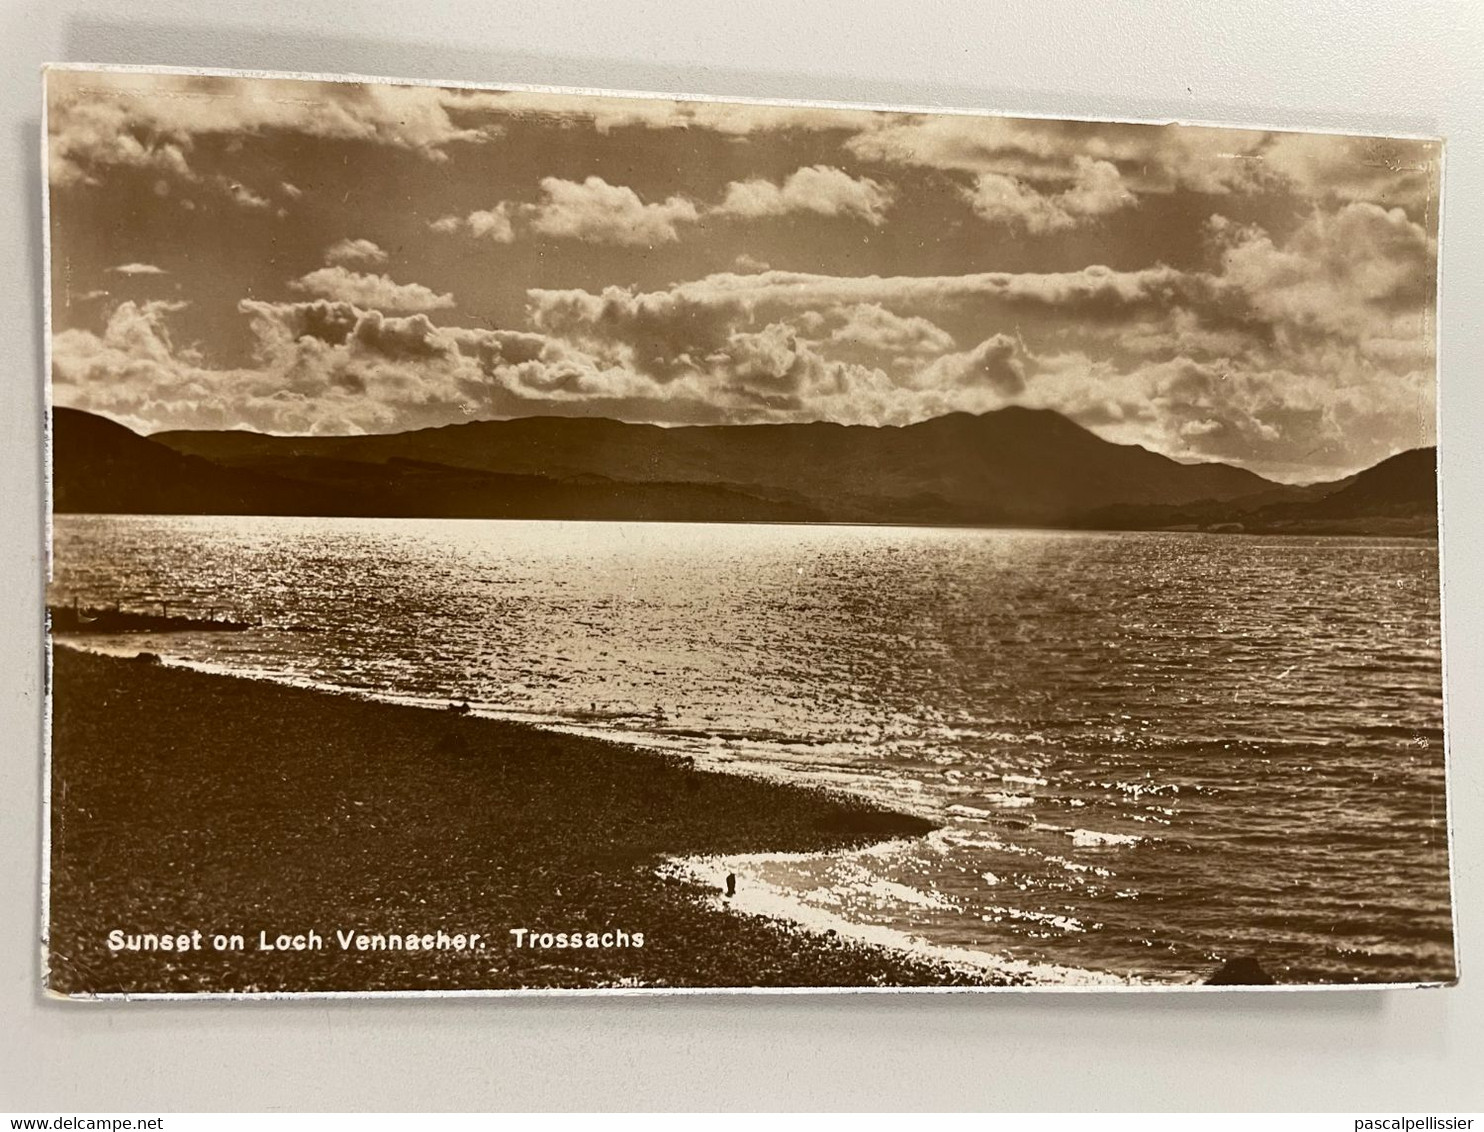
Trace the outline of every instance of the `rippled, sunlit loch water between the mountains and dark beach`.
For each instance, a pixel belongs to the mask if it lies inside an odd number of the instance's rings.
[[[801,911],[1120,978],[1453,975],[1426,542],[58,516],[91,638],[827,782],[920,841],[745,862]]]

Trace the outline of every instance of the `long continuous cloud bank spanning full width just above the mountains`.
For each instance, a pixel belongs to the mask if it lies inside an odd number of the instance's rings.
[[[1437,248],[1419,224],[1350,202],[1275,231],[1215,218],[1208,240],[1189,270],[531,289],[512,329],[438,325],[451,295],[334,264],[295,280],[313,298],[242,303],[251,368],[211,369],[175,344],[175,304],[122,303],[101,332],[59,334],[58,404],[278,432],[539,411],[905,424],[1024,404],[1287,479],[1431,442]]]

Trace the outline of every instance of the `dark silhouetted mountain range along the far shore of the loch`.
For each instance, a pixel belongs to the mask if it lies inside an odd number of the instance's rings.
[[[58,408],[52,450],[58,512],[1437,530],[1431,448],[1290,487],[1025,408],[899,427],[527,417],[362,436],[141,436]]]

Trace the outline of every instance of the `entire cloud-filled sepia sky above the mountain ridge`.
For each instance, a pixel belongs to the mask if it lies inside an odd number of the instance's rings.
[[[50,71],[53,398],[139,432],[1031,405],[1434,442],[1435,142]]]

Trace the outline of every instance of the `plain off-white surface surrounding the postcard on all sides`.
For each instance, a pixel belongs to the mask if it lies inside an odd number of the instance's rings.
[[[1484,1108],[1484,4],[0,0],[0,1110]],[[45,61],[1441,134],[1463,984],[1263,996],[82,1006],[39,996]]]

